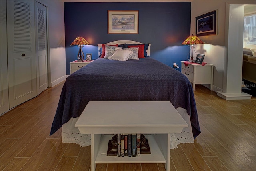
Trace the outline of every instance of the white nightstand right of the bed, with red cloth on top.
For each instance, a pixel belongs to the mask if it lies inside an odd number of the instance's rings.
[[[190,82],[193,83],[193,90],[195,90],[196,84],[209,84],[209,89],[212,90],[212,64],[206,64],[205,66],[200,64],[188,64],[188,66],[185,66],[184,61],[181,61],[181,72],[188,78]]]

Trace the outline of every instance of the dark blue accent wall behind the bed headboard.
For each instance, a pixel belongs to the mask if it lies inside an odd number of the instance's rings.
[[[108,34],[108,10],[139,10],[139,34]],[[64,2],[66,74],[77,59],[78,47],[70,46],[78,36],[91,45],[84,55],[98,58],[97,44],[116,40],[151,43],[150,57],[173,66],[187,60],[189,47],[181,45],[190,35],[191,2]]]

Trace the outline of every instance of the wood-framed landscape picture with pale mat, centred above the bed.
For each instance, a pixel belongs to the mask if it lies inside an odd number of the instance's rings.
[[[139,34],[139,11],[108,10],[108,34]]]

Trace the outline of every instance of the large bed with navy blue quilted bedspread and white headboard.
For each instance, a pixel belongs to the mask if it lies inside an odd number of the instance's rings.
[[[140,47],[136,50],[141,50],[143,43],[118,40],[98,44],[99,52],[102,52],[102,45],[108,51],[107,48],[114,47],[109,45],[116,44],[122,48],[135,44]],[[150,44],[144,45],[147,47],[144,48],[144,58],[139,60],[98,58],[70,74],[62,88],[50,135],[62,128],[62,142],[91,145],[90,135],[81,134],[74,127],[89,101],[170,101],[188,124],[182,133],[171,135],[171,149],[180,143],[194,143],[194,138],[200,134],[200,126],[189,80],[174,68],[150,58]]]

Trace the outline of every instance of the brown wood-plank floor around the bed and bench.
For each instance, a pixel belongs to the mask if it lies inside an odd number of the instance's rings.
[[[49,136],[63,83],[0,117],[1,171],[89,171],[90,146]],[[226,101],[196,85],[202,133],[170,150],[170,171],[256,169],[256,98]],[[98,164],[97,171],[165,171],[163,164]]]

